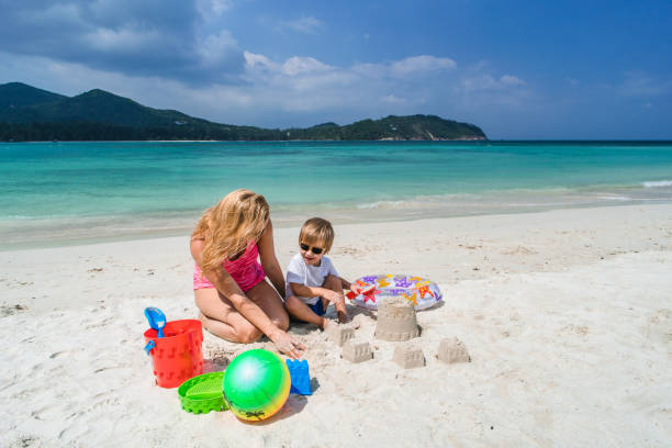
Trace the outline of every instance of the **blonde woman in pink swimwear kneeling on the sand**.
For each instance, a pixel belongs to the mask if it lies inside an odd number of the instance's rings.
[[[191,256],[195,303],[210,333],[243,344],[265,334],[281,352],[300,357],[304,347],[285,332],[284,277],[262,195],[239,189],[208,209],[191,234]]]

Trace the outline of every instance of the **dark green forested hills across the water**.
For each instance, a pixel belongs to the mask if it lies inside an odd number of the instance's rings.
[[[0,141],[482,141],[477,125],[436,115],[390,115],[340,126],[262,128],[213,123],[94,89],[76,97],[0,85]]]

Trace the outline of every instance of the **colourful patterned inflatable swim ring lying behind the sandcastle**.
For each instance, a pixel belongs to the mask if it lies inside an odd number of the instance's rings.
[[[444,299],[438,285],[422,277],[403,275],[365,276],[355,280],[362,288],[361,294],[352,291],[346,294],[356,305],[378,310],[378,302],[383,298],[402,296],[413,302],[415,310],[425,310]]]

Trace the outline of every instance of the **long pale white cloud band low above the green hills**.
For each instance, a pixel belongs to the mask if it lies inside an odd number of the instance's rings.
[[[210,36],[200,49],[203,54],[199,60],[212,59],[217,67],[219,58],[235,45],[228,32]],[[27,67],[33,67],[33,75],[21,80],[59,93],[76,94],[101,88],[153,108],[177,109],[220,123],[272,127],[327,121],[346,124],[363,117],[415,113],[467,120],[468,114],[477,115],[478,111],[509,110],[529,98],[519,77],[511,74],[495,77],[478,70],[464,75],[450,63],[452,59],[427,55],[345,67],[306,56],[273,60],[258,53],[242,52],[242,55],[244,72],[238,82],[192,85],[157,76],[113,74],[46,58],[22,59],[22,67],[4,68],[0,54],[0,82],[15,80],[13,74],[27,72]],[[418,76],[412,76],[411,69],[400,68],[412,61],[418,63],[413,66],[419,70]],[[45,85],[44,79],[51,83]]]

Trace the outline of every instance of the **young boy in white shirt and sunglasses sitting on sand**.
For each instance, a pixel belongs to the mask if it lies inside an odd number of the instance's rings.
[[[339,323],[349,321],[344,288],[360,292],[359,285],[338,277],[332,260],[324,256],[332,248],[332,243],[334,228],[328,221],[321,217],[307,220],[299,234],[301,251],[292,257],[287,268],[287,311],[291,316],[318,325],[322,329],[328,325],[328,320],[323,316],[329,302],[336,307]]]

